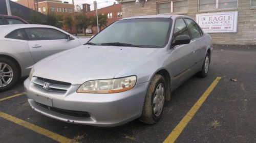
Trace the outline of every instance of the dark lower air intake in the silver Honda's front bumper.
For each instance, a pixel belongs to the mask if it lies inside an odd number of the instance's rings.
[[[65,116],[71,116],[71,117],[78,117],[78,118],[90,118],[90,114],[89,112],[84,112],[84,111],[73,111],[73,110],[64,110],[64,109],[59,109],[59,108],[55,108],[55,107],[50,107],[44,104],[40,104],[37,103],[37,105],[39,105],[41,108],[56,112],[56,113],[60,113],[61,115],[65,115]]]

